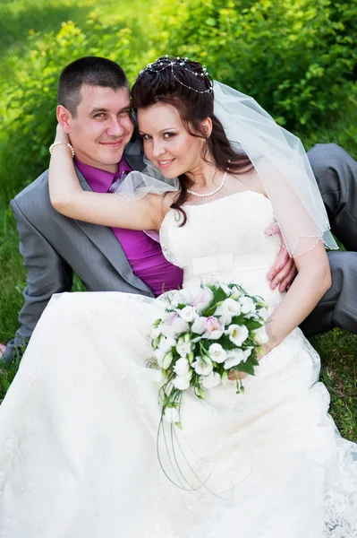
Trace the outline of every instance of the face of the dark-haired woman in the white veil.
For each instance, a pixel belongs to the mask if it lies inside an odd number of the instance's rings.
[[[157,103],[138,110],[138,124],[145,154],[166,178],[199,170],[204,141],[189,134],[173,105]]]

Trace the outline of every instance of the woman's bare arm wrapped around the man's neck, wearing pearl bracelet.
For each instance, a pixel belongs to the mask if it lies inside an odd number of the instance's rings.
[[[74,169],[69,142],[61,127],[57,128],[48,175],[51,204],[58,213],[79,221],[131,230],[158,230],[166,213],[162,195],[146,195],[128,203],[121,196],[83,191]],[[167,208],[168,209],[168,208]],[[167,210],[166,209],[166,210]]]

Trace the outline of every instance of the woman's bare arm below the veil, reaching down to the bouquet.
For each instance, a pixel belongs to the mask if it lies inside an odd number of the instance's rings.
[[[321,240],[310,251],[295,258],[298,274],[284,299],[267,320],[269,341],[266,353],[281,343],[287,334],[300,325],[331,287],[331,273]]]

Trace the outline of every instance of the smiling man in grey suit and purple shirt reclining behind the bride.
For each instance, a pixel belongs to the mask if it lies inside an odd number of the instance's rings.
[[[144,169],[130,111],[123,69],[105,58],[84,57],[64,68],[58,87],[57,119],[70,134],[81,187],[107,192],[132,169]],[[54,149],[55,151],[55,149]],[[345,247],[357,246],[357,163],[336,144],[317,145],[309,158],[327,206],[332,230]],[[4,360],[21,352],[54,293],[71,291],[76,273],[88,291],[126,291],[153,297],[177,288],[181,269],[169,264],[152,234],[73,221],[55,212],[44,172],[11,202],[28,269],[21,327],[7,344]],[[303,323],[306,334],[341,326],[357,334],[357,253],[329,254],[333,285]],[[294,276],[282,249],[268,273],[284,291]],[[1,352],[0,352],[1,354]]]

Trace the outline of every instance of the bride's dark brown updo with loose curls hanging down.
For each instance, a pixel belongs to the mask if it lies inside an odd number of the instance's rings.
[[[153,64],[140,71],[132,86],[132,107],[149,108],[157,103],[174,106],[180,114],[183,126],[192,136],[205,140],[202,146],[202,160],[214,163],[217,169],[229,169],[234,175],[244,174],[252,168],[245,153],[234,152],[225,130],[214,115],[213,81],[204,65],[188,58],[161,56]],[[210,117],[212,132],[209,136],[201,122]],[[179,177],[181,191],[172,208],[183,214],[183,224],[187,217],[182,209],[193,184],[185,174]]]

